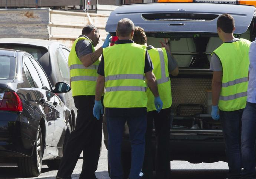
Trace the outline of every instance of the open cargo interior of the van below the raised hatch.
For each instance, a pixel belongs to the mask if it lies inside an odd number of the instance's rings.
[[[250,40],[250,28],[236,38]],[[179,65],[179,75],[170,76],[172,89],[171,132],[173,135],[191,135],[198,132],[217,132],[221,135],[220,121],[211,118],[212,71],[209,70],[211,53],[222,41],[217,34],[147,33],[147,44],[160,48],[159,41],[168,38],[170,51]],[[215,134],[217,134],[215,133]]]

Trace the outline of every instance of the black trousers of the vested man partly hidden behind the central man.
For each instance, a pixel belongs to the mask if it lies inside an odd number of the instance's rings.
[[[152,128],[153,119],[156,131],[156,175],[158,179],[169,179],[171,172],[169,143],[170,143],[170,114],[171,108],[162,109],[160,113],[150,111],[147,114],[147,132],[145,135],[145,158],[143,163],[143,179],[153,178]]]

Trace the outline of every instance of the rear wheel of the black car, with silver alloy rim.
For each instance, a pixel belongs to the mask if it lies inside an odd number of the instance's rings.
[[[43,140],[40,126],[37,129],[36,145],[31,157],[21,157],[18,159],[20,174],[26,177],[37,177],[42,169]]]

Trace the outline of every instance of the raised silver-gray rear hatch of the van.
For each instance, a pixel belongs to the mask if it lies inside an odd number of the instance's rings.
[[[129,18],[146,32],[217,33],[217,19],[223,13],[235,19],[235,34],[245,33],[252,21],[254,6],[217,3],[149,3],[124,5],[108,18],[107,32],[115,32],[120,19]]]

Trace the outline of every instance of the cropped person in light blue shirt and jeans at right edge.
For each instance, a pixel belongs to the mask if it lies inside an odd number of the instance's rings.
[[[242,116],[242,163],[243,179],[255,179],[255,140],[256,140],[256,38],[249,51],[249,84],[247,103]]]

